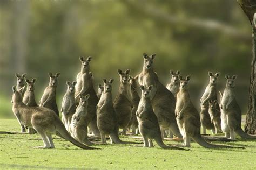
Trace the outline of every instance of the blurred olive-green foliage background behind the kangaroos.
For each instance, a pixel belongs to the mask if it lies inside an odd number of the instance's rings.
[[[207,71],[238,74],[237,100],[246,111],[251,70],[251,26],[234,0],[170,1],[0,1],[0,117],[14,117],[11,86],[15,73],[37,78],[36,100],[48,85],[48,72],[60,72],[58,107],[65,81],[75,81],[79,56],[93,56],[95,88],[117,69],[142,70],[142,54],[156,53],[160,81],[169,70],[192,75],[191,98],[199,99],[208,83]]]

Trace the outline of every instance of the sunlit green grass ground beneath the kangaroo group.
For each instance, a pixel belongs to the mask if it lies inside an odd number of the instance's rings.
[[[16,119],[0,119],[0,131],[20,131]],[[138,145],[98,145],[101,150],[82,150],[56,137],[56,149],[43,145],[38,134],[0,134],[1,169],[98,168],[98,169],[254,169],[256,140],[226,143],[245,150],[211,150],[192,143],[191,151],[163,150]],[[122,137],[122,140],[132,140]],[[165,144],[177,144],[164,141]]]

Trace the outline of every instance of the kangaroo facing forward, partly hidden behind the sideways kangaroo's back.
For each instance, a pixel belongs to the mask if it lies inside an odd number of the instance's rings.
[[[30,106],[30,107],[37,107],[37,103],[35,100],[35,83],[36,79],[32,79],[32,81],[29,81],[29,79],[25,79],[28,86],[26,87],[26,91],[23,95],[23,103]],[[29,134],[35,134],[35,130],[33,128],[29,128]]]

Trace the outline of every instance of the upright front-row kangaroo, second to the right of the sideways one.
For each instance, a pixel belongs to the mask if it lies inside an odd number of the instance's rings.
[[[104,82],[104,92],[100,97],[97,105],[97,126],[100,131],[100,137],[103,144],[106,144],[105,135],[110,137],[111,144],[136,144],[120,140],[118,136],[118,121],[117,114],[114,110],[112,99],[112,83],[114,79]]]

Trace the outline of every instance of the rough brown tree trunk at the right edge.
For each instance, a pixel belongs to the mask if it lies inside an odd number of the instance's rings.
[[[256,44],[256,1],[255,0],[238,0],[238,4],[241,6],[247,15],[252,25],[252,64],[251,64],[251,78],[249,88],[249,104],[246,114],[245,132],[254,134],[256,128],[256,63],[255,63],[255,44]]]

